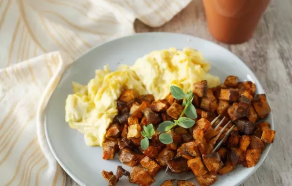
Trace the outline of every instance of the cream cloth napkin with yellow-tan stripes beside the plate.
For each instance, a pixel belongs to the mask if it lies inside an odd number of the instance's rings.
[[[190,1],[0,0],[0,186],[65,185],[42,115],[60,75],[135,19],[160,26]]]

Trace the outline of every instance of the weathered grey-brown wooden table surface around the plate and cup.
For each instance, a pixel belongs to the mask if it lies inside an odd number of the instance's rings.
[[[292,185],[292,0],[271,0],[254,37],[239,45],[217,42],[208,32],[201,0],[172,20],[150,28],[137,20],[136,32],[177,32],[218,43],[241,58],[256,74],[270,99],[275,142],[262,164],[242,186]],[[66,186],[78,186],[67,176]]]

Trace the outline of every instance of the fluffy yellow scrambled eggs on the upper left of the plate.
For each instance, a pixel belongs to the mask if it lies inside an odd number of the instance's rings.
[[[165,98],[171,85],[181,87],[183,92],[204,79],[210,88],[218,86],[219,78],[208,74],[210,68],[201,53],[191,48],[154,51],[133,66],[122,65],[114,72],[105,66],[104,70],[96,70],[88,85],[73,82],[73,94],[66,100],[65,120],[84,134],[88,146],[102,146],[107,128],[118,114],[117,99],[124,89],[133,89],[140,95],[153,94],[157,100]]]

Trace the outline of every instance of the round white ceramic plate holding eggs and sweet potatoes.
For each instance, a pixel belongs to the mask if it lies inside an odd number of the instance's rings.
[[[221,82],[227,75],[234,74],[241,81],[256,83],[257,93],[264,93],[255,74],[235,55],[225,48],[210,41],[181,34],[146,33],[123,37],[95,47],[77,59],[62,76],[45,110],[46,137],[56,160],[64,170],[81,186],[107,186],[101,171],[116,172],[122,165],[119,160],[103,160],[102,148],[85,145],[83,135],[70,129],[65,122],[65,100],[72,93],[72,81],[87,84],[95,75],[95,69],[102,69],[109,64],[116,70],[120,64],[133,65],[136,59],[154,50],[175,47],[198,49],[212,64],[211,74],[218,75]],[[272,114],[267,118],[274,129]],[[256,167],[237,167],[229,174],[219,176],[214,186],[238,186],[262,164],[271,145],[268,145]],[[131,170],[130,167],[126,167]],[[158,179],[157,176],[155,179]],[[195,181],[194,179],[192,181]],[[128,179],[122,177],[117,186],[128,186]]]

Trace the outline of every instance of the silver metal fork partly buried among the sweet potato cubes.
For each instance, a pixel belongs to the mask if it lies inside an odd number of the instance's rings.
[[[211,122],[212,127],[215,124],[215,122],[219,119],[220,116],[221,116],[221,114],[219,114],[215,119],[213,119],[213,121]],[[224,119],[225,119],[225,116],[221,119],[221,121],[214,128],[214,130],[218,130],[220,125],[223,123]],[[227,128],[227,126],[229,125],[230,122],[231,121],[228,121],[227,124],[214,137],[215,143],[219,139],[220,135],[225,131],[225,129]],[[235,125],[233,125],[229,130],[227,130],[226,134],[221,139],[221,141],[217,144],[217,146],[213,149],[212,153],[216,152],[220,148],[220,146],[227,139],[227,137],[230,135],[230,133],[234,129],[234,127],[235,127]],[[156,180],[156,182],[154,182],[153,185],[151,185],[151,186],[161,186],[166,180],[188,180],[188,179],[195,177],[195,175],[191,171],[182,172],[182,173],[172,173],[172,172],[168,171],[168,169],[169,169],[169,167],[167,166],[166,170],[164,172],[158,173],[158,175],[156,177],[160,178],[160,179]]]

